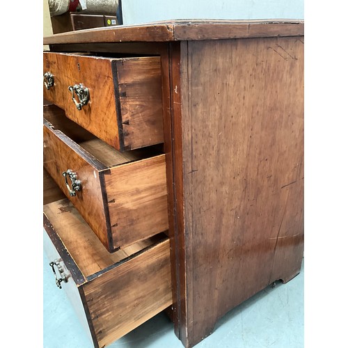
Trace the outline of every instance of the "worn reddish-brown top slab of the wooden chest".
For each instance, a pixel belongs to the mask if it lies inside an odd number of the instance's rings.
[[[91,42],[159,42],[303,35],[299,19],[184,19],[107,29],[86,29],[44,38],[44,45]]]

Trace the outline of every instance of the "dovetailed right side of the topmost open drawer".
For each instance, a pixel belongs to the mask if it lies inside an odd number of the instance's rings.
[[[159,57],[114,61],[125,149],[163,143]]]

